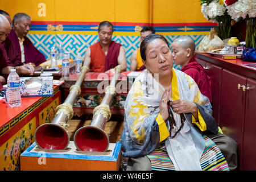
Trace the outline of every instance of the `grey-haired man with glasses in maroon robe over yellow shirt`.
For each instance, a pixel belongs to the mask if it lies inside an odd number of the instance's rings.
[[[46,57],[27,38],[30,31],[31,18],[25,13],[17,13],[13,17],[13,30],[8,38],[15,45],[21,57],[22,63],[30,63],[38,66],[46,61]]]

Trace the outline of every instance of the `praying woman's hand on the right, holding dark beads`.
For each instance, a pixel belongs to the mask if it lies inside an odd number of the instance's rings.
[[[194,102],[187,100],[171,101],[172,110],[177,114],[181,113],[197,113],[197,106]]]

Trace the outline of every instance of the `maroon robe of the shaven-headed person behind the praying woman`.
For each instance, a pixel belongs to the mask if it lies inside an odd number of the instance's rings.
[[[196,62],[196,54],[192,57],[187,65],[181,67],[181,71],[191,76],[195,80],[199,87],[200,92],[209,98],[212,103],[212,88],[210,77],[207,72],[201,66],[201,64]]]

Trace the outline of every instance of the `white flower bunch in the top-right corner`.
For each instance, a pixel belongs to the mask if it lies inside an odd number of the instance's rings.
[[[255,0],[238,0],[232,5],[226,5],[224,1],[228,14],[233,20],[238,21],[239,19],[245,19],[248,15],[249,18],[256,17],[256,1]]]

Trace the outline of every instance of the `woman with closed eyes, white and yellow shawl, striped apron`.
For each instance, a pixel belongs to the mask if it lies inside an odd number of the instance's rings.
[[[209,99],[184,72],[172,66],[164,36],[141,43],[146,69],[125,101],[120,142],[126,170],[229,170],[220,149],[205,132],[217,134]]]

